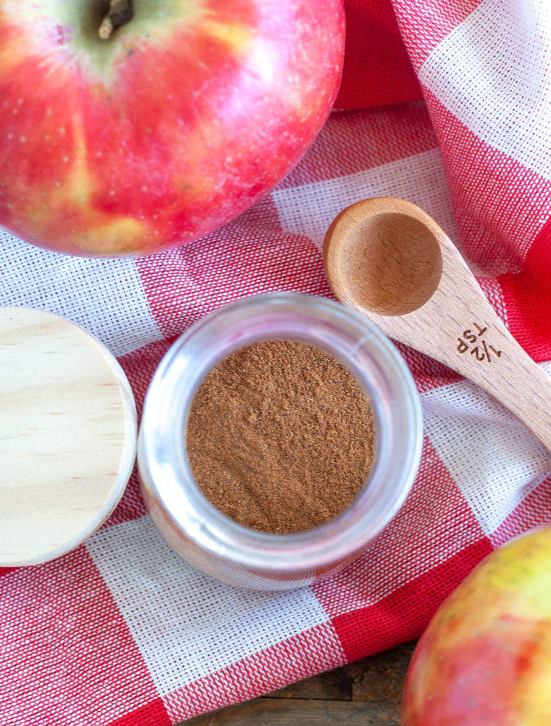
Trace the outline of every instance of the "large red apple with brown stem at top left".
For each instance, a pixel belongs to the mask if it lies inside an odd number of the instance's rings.
[[[35,245],[201,237],[290,171],[336,97],[342,0],[133,0],[107,39],[104,17],[108,0],[0,5],[0,224]]]

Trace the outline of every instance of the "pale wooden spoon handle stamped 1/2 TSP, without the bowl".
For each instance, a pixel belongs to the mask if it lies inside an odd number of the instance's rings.
[[[442,283],[431,305],[401,317],[369,317],[386,335],[490,393],[551,451],[551,380],[510,334],[452,242],[440,241]]]

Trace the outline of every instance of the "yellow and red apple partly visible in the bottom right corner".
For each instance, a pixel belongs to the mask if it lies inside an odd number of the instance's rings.
[[[407,672],[402,726],[551,724],[551,527],[492,552],[444,601]]]

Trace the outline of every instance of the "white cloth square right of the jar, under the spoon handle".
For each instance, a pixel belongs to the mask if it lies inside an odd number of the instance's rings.
[[[550,363],[542,368],[551,373]],[[422,393],[421,400],[428,438],[484,534],[492,534],[551,470],[550,452],[468,380]]]

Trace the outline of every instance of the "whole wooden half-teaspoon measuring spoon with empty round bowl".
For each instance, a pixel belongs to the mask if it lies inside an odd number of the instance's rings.
[[[341,303],[477,383],[551,450],[551,381],[427,213],[392,197],[352,204],[327,231],[323,264]]]

